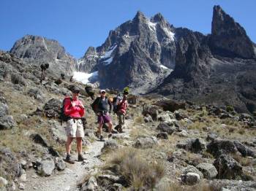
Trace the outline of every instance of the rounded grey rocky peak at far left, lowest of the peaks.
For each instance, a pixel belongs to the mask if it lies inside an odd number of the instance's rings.
[[[57,75],[63,72],[71,75],[76,66],[75,58],[59,42],[41,36],[24,36],[15,42],[10,52],[37,65],[49,63],[50,70]]]

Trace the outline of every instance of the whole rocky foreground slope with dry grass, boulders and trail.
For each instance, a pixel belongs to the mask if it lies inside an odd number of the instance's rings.
[[[0,52],[0,66],[1,190],[256,189],[255,117],[233,106],[129,95],[124,133],[102,142],[82,84],[50,72],[41,84],[38,66],[8,52]],[[73,85],[86,107],[86,160],[71,165],[59,114]]]

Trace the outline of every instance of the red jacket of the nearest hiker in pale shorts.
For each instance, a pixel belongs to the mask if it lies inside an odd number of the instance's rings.
[[[64,114],[68,115],[69,117],[83,117],[84,108],[83,104],[80,100],[73,100],[75,102],[75,106],[72,106],[71,100],[67,99],[64,103]]]

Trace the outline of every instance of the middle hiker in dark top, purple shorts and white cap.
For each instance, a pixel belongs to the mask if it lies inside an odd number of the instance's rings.
[[[99,136],[100,141],[103,141],[103,136],[102,136],[102,126],[104,123],[108,123],[108,138],[112,136],[112,121],[110,117],[110,113],[112,112],[112,104],[106,97],[106,91],[105,90],[100,90],[99,91],[100,96],[96,98],[93,104],[91,104],[92,108],[94,109],[94,112],[98,116],[98,131],[97,131],[97,136]],[[108,109],[108,106],[110,107]]]

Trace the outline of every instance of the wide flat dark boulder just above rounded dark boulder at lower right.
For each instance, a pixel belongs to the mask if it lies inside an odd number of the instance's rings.
[[[218,157],[219,155],[222,155],[222,153],[236,153],[238,150],[236,149],[236,145],[233,141],[214,139],[207,145],[207,152],[210,152],[214,157]]]

